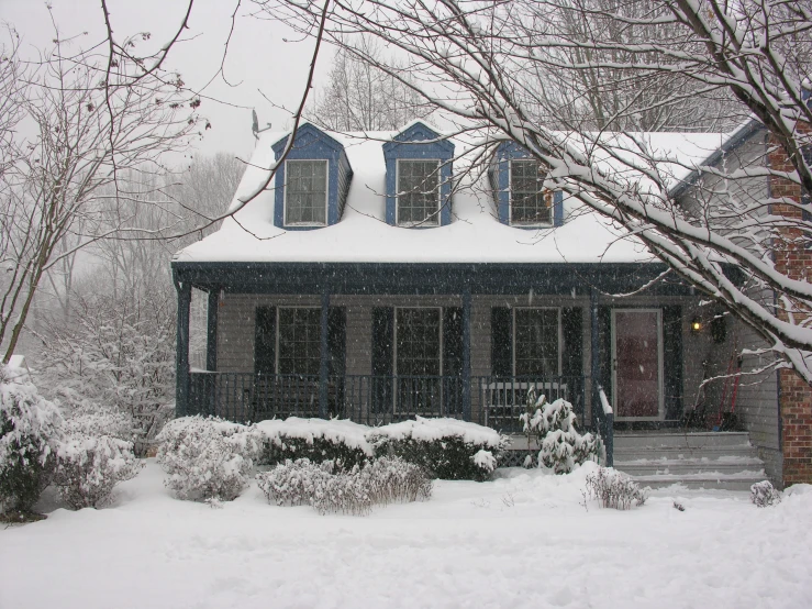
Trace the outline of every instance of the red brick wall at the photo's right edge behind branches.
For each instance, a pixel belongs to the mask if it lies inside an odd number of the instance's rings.
[[[770,167],[792,171],[794,167],[786,152],[774,143],[769,155]],[[781,178],[770,178],[772,198],[788,197],[801,200],[801,187]],[[772,206],[772,213],[801,220],[800,209],[788,204]],[[786,228],[782,239],[774,244],[776,268],[790,278],[809,281],[812,278],[812,250],[803,243],[799,229]],[[812,317],[812,311],[794,303],[801,315]],[[786,313],[780,315],[786,318]],[[798,320],[798,313],[796,313]],[[792,370],[780,370],[780,409],[783,446],[783,483],[812,483],[812,388]]]

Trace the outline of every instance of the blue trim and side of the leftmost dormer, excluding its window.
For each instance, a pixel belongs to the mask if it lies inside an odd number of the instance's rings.
[[[290,134],[279,140],[271,146],[276,160],[281,158],[285,147],[288,145]],[[320,225],[286,225],[286,164],[288,160],[326,160],[327,162],[327,213],[326,224]],[[321,129],[310,123],[304,123],[297,130],[296,141],[285,162],[276,173],[276,187],[274,192],[274,225],[286,231],[310,231],[324,225],[336,224],[344,211],[344,204],[349,191],[349,182],[353,179],[353,168],[347,159],[344,145],[324,133]]]

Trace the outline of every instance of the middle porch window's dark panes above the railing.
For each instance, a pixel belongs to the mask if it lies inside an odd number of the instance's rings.
[[[397,374],[440,376],[440,309],[397,309]]]

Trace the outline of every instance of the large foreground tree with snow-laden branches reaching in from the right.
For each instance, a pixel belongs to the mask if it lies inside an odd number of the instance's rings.
[[[258,4],[301,32],[314,31],[319,15],[307,1]],[[743,168],[726,170],[723,164],[701,169],[724,184],[760,176],[812,191],[812,168],[802,154],[812,144],[812,110],[804,90],[810,82],[809,3],[658,0],[652,5],[648,15],[607,15],[618,27],[642,30],[638,38],[618,41],[601,32],[563,36],[560,15],[580,9],[553,0],[349,0],[333,3],[325,36],[345,45],[351,35],[372,36],[409,54],[419,80],[383,60],[367,59],[418,89],[465,129],[479,130],[482,145],[513,140],[527,148],[550,168],[545,186],[623,225],[674,272],[754,328],[779,365],[812,383],[812,284],[772,255],[775,244],[798,253],[812,239],[801,201],[780,196],[749,200],[727,189],[723,196],[709,191],[704,203],[687,209],[670,195],[679,159],[653,150],[644,137],[596,133],[588,121],[575,133],[552,130],[545,119],[556,108],[540,93],[546,86],[541,76],[549,70],[560,70],[571,81],[583,70],[596,78],[605,74],[605,81],[594,84],[596,95],[611,96],[618,89],[616,69],[644,82],[665,76],[692,81],[696,87],[675,93],[678,98],[724,89],[743,113],[757,117],[771,135],[772,151],[783,153],[788,166],[761,158]],[[581,57],[578,63],[572,53]],[[633,117],[660,102],[642,103],[624,102],[613,112]],[[619,124],[619,119],[611,117],[609,124]],[[747,281],[731,280],[727,265],[742,269]],[[776,307],[753,297],[765,290],[776,295]]]

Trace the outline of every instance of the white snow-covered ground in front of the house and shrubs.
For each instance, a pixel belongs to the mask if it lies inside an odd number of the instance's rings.
[[[47,520],[0,530],[0,608],[812,607],[812,487],[766,509],[666,489],[619,512],[580,505],[583,469],[507,469],[356,518],[255,485],[212,509],[163,476],[151,461],[108,509],[46,497]]]

